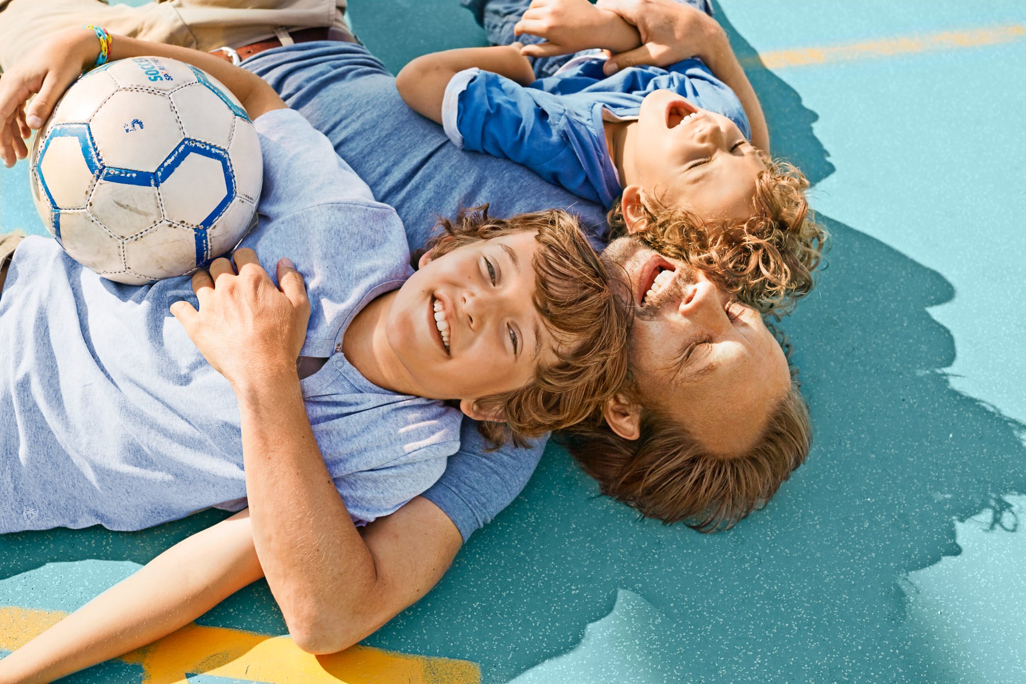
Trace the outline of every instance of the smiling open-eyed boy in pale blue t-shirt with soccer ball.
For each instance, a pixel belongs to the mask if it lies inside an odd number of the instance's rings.
[[[354,521],[431,486],[464,413],[494,443],[523,443],[586,417],[622,380],[626,318],[569,214],[464,212],[413,273],[395,210],[263,80],[185,48],[114,40],[112,58],[158,54],[224,75],[253,119],[264,190],[238,278],[251,284],[245,264],[286,255],[306,275],[301,389]],[[41,47],[76,71],[98,50],[81,29]],[[230,273],[216,259],[207,278]],[[18,350],[0,364],[0,451],[16,454],[0,460],[0,533],[142,529],[245,506],[236,396],[188,336],[210,296],[204,277],[196,297],[186,278],[120,285],[51,239],[17,245],[0,296],[0,348]],[[26,520],[25,508],[39,513]]]

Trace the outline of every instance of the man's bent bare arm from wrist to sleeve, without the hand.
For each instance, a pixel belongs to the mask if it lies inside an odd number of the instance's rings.
[[[299,383],[249,387],[239,401],[253,544],[271,592],[300,648],[348,648],[427,594],[463,537],[422,497],[361,536],[313,439]]]

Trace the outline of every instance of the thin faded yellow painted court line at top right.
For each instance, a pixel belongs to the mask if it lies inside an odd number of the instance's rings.
[[[847,45],[762,52],[758,56],[742,58],[741,66],[752,68],[761,65],[766,69],[786,69],[788,67],[808,67],[862,59],[879,59],[896,54],[914,54],[916,52],[936,52],[940,50],[979,47],[981,45],[996,45],[1022,40],[1024,36],[1026,36],[1026,27],[1018,24],[971,31],[945,31],[925,36],[867,40]]]

